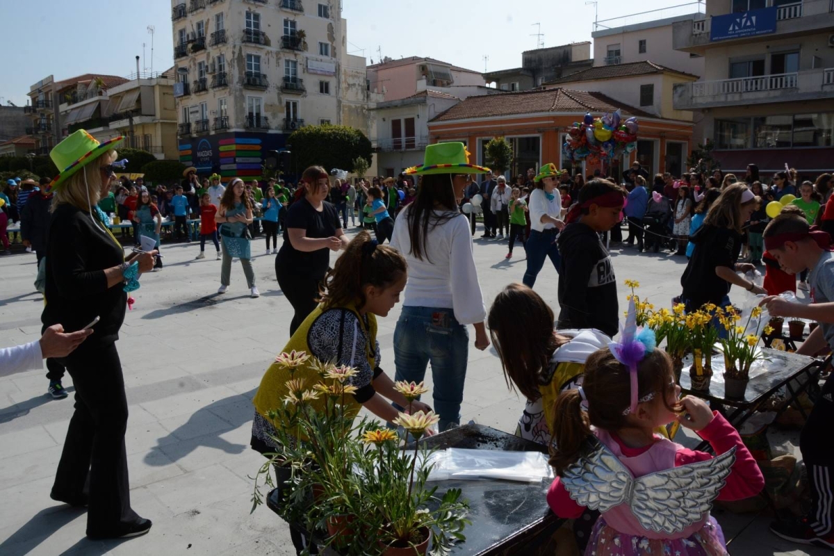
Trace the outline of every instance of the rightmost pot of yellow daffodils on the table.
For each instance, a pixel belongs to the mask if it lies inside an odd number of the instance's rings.
[[[759,359],[766,359],[758,347],[759,336],[756,327],[748,329],[751,318],[758,318],[760,315],[761,308],[753,308],[744,326],[739,324],[741,315],[731,306],[724,308],[718,316],[725,331],[719,343],[724,352],[724,386],[727,398],[744,398],[752,364]],[[771,327],[767,326],[764,333],[770,335]]]

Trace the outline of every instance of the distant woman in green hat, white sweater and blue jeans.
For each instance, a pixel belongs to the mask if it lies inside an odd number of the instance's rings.
[[[545,265],[545,258],[550,257],[553,268],[559,272],[561,260],[559,248],[556,247],[556,235],[565,223],[562,221],[562,200],[557,190],[559,176],[564,170],[556,168],[554,163],[542,166],[534,178],[535,189],[530,192],[530,238],[527,239],[527,272],[524,273],[525,286],[533,287],[535,277]]]

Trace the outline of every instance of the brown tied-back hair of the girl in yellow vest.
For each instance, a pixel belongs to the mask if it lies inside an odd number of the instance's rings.
[[[348,244],[319,287],[324,309],[365,304],[364,287],[388,288],[408,272],[405,258],[388,245],[379,245],[368,232],[359,232]]]

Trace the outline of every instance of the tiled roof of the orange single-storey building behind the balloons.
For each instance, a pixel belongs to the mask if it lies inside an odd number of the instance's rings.
[[[617,108],[624,115],[656,118],[653,114],[620,103],[602,93],[569,91],[558,88],[470,97],[455,104],[455,106],[431,121],[445,122],[468,118],[497,118],[542,112],[614,112]]]

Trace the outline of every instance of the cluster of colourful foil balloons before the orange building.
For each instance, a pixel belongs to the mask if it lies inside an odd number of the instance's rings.
[[[621,120],[620,110],[600,118],[586,113],[581,122],[567,128],[562,155],[571,162],[584,159],[593,164],[631,153],[637,148],[637,118]]]

